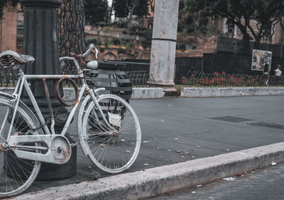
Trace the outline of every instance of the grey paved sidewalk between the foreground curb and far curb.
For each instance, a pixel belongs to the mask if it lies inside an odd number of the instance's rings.
[[[131,100],[141,123],[142,143],[136,163],[124,174],[283,142],[283,100],[283,95]],[[76,133],[75,123],[68,132]],[[118,176],[101,172],[82,155],[79,146],[77,152],[77,175],[35,182],[16,198],[42,189],[93,182],[94,172],[99,180]]]

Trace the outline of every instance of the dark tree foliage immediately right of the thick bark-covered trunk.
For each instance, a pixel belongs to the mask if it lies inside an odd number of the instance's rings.
[[[90,24],[107,22],[108,15],[107,0],[84,0],[84,14],[86,22]]]

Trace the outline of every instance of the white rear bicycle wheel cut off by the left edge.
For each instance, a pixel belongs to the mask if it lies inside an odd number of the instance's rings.
[[[11,135],[14,136],[32,134],[29,130],[35,128],[31,119],[34,114],[31,111],[27,111],[27,113],[20,106],[16,112],[15,120],[11,124],[14,105],[9,100],[0,98],[0,197],[14,196],[23,192],[33,183],[40,170],[40,162],[18,158],[13,152],[13,148],[4,145],[7,142],[11,126]],[[34,121],[36,122],[36,120]]]

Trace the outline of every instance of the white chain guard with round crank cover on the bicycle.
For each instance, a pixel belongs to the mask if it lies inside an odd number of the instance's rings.
[[[44,163],[64,164],[71,157],[70,143],[61,135],[11,136],[8,146],[18,158]]]

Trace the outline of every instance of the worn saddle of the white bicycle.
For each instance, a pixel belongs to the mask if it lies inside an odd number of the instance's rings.
[[[2,65],[10,65],[13,62],[13,59],[18,61],[20,64],[32,63],[35,61],[35,58],[32,56],[20,55],[13,51],[4,51],[0,54],[0,63]]]

